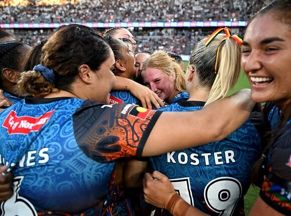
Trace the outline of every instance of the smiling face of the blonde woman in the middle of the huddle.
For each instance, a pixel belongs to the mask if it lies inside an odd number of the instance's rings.
[[[161,99],[168,97],[175,91],[175,74],[168,76],[160,69],[148,67],[141,72],[143,82]]]

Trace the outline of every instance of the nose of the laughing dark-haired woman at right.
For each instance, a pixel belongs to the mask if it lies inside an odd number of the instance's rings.
[[[245,73],[254,73],[262,67],[259,51],[252,50],[248,55],[241,56],[241,66]]]

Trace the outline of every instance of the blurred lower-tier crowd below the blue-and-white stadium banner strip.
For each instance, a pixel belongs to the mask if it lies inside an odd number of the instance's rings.
[[[9,32],[12,33],[18,40],[34,46],[39,44],[42,40],[48,39],[48,36],[54,29],[14,29]],[[104,31],[103,29],[98,29]],[[213,30],[205,30],[201,28],[152,28],[150,30],[136,29],[132,31],[135,40],[137,41],[136,52],[141,50],[148,50],[154,52],[156,50],[167,50],[178,54],[189,55],[191,48],[204,36],[209,35]]]

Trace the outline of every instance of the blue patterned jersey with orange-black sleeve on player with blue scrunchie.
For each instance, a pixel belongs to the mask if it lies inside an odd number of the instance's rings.
[[[12,170],[15,193],[1,203],[2,212],[99,215],[113,161],[141,155],[159,113],[67,97],[25,98],[5,109],[0,156]]]

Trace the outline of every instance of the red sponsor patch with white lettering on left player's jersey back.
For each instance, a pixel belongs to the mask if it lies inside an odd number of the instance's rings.
[[[42,126],[49,120],[55,110],[46,112],[39,117],[17,116],[17,113],[12,110],[6,117],[3,127],[8,129],[8,133],[29,134],[31,131],[39,131]]]

